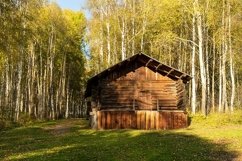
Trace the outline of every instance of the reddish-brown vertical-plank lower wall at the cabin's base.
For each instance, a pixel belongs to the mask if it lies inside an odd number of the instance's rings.
[[[187,115],[173,111],[98,111],[98,129],[178,129],[187,127]]]

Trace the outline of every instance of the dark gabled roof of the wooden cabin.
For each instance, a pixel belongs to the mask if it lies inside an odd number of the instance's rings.
[[[101,73],[90,78],[87,82],[85,97],[91,96],[91,86],[93,83],[96,83],[99,79],[104,78],[109,73],[113,72],[114,70],[124,68],[127,65],[127,63],[130,63],[130,62],[132,63],[135,61],[138,61],[143,66],[150,68],[152,71],[160,73],[161,75],[167,76],[173,80],[181,79],[184,83],[187,83],[188,81],[190,81],[192,79],[192,77],[190,75],[183,73],[183,72],[179,71],[178,69],[165,65],[144,53],[138,53],[132,57],[129,57],[129,58],[111,66],[110,68],[108,68],[108,69],[102,71]]]

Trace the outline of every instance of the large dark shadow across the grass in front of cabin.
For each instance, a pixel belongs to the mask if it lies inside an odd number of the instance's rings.
[[[65,135],[42,127],[0,133],[3,160],[233,160],[226,143],[176,131],[107,130],[75,126]]]

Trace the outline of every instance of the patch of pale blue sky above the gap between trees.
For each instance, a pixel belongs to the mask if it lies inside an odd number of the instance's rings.
[[[86,17],[91,17],[90,13],[85,9],[87,0],[55,0],[63,9],[71,9],[74,11],[84,11]]]

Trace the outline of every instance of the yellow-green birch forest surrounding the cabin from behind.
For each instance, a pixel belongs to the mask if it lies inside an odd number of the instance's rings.
[[[88,78],[138,52],[190,74],[187,110],[241,109],[242,1],[0,2],[0,119],[85,115]]]

